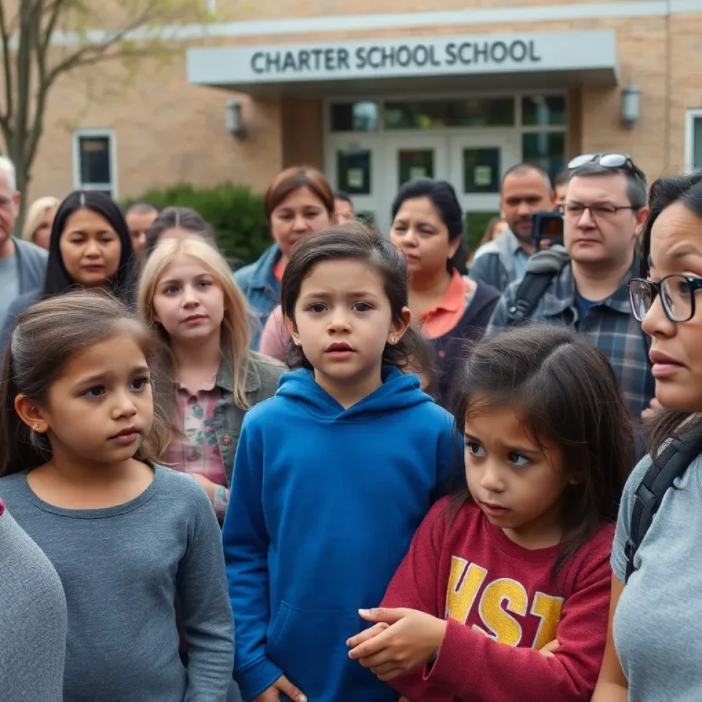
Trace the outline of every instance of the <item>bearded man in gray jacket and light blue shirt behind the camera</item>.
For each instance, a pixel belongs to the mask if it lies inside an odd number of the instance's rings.
[[[500,208],[508,229],[477,250],[470,277],[503,293],[510,283],[524,276],[534,253],[531,216],[555,208],[548,173],[533,164],[512,166],[502,179]]]

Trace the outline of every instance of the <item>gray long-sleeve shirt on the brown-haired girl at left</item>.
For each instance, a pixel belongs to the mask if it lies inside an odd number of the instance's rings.
[[[41,501],[21,472],[0,479],[0,496],[63,583],[65,702],[225,702],[234,625],[219,525],[197,482],[157,467],[131,502],[66,510]]]

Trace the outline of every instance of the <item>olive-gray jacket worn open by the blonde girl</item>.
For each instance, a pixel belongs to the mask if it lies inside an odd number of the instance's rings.
[[[278,380],[287,371],[286,366],[256,352],[251,354],[249,375],[246,376],[246,399],[249,406],[273,397],[278,389]],[[217,444],[222,456],[222,465],[227,476],[227,486],[232,484],[234,470],[234,453],[237,451],[241,424],[246,411],[234,404],[234,378],[229,364],[220,364],[215,385],[222,391],[222,399],[217,403],[214,413]]]

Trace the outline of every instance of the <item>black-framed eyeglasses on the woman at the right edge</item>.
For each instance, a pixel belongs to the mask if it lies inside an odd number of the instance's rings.
[[[694,317],[695,293],[702,289],[702,278],[673,273],[657,283],[633,278],[628,286],[631,311],[639,322],[646,317],[656,295],[661,296],[663,312],[671,322],[687,322]]]

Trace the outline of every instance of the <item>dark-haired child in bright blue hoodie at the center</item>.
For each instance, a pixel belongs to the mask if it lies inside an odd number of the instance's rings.
[[[462,472],[420,390],[402,253],[361,225],[303,241],[282,284],[293,365],[246,414],[223,528],[248,702],[397,702],[348,657],[414,531]]]

